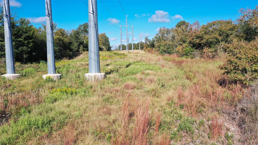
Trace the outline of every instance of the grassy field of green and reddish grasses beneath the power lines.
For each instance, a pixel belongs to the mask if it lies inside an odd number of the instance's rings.
[[[16,63],[0,78],[0,144],[238,144],[232,111],[244,97],[222,60],[100,52],[101,82],[87,82],[88,54],[47,64]],[[1,61],[0,73],[5,73]]]

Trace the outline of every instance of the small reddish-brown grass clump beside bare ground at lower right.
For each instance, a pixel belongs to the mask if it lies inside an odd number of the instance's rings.
[[[211,134],[212,139],[216,139],[219,135],[222,135],[222,129],[223,129],[224,122],[219,119],[217,116],[214,116],[211,121]]]

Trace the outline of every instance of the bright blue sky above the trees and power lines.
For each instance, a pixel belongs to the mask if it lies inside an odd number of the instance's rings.
[[[53,21],[59,28],[76,29],[78,25],[88,22],[88,0],[52,0]],[[114,47],[120,44],[120,25],[125,25],[125,15],[118,0],[100,0],[98,3],[99,33],[106,33]],[[134,43],[142,37],[153,38],[159,27],[174,27],[177,22],[185,20],[201,24],[220,19],[236,20],[239,9],[258,5],[258,0],[120,0],[130,25],[134,27]],[[18,17],[31,20],[35,27],[45,23],[44,0],[10,0],[11,9],[15,9]],[[219,18],[218,18],[219,17]],[[119,27],[115,27],[111,25]],[[125,32],[122,28],[122,33]],[[131,29],[128,28],[128,33]],[[123,43],[125,43],[125,35]],[[129,42],[132,41],[129,33]]]

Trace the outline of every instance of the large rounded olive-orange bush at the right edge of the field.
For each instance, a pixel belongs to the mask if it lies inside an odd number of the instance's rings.
[[[225,46],[227,59],[221,69],[234,82],[249,85],[258,78],[258,39],[247,43],[235,40]]]

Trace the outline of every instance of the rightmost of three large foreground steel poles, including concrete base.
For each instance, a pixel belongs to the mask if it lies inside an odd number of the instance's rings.
[[[88,0],[89,18],[89,73],[85,74],[88,81],[98,81],[105,77],[100,73],[99,30],[97,0]]]

